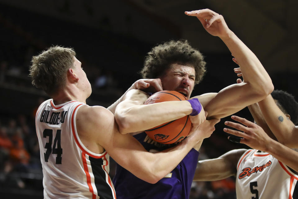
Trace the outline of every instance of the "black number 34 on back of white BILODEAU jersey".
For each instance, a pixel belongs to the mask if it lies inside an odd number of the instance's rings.
[[[44,146],[47,151],[43,153],[44,155],[44,161],[49,160],[49,156],[52,154],[57,154],[56,157],[56,164],[61,164],[62,161],[62,148],[61,148],[61,130],[57,130],[56,137],[54,139],[54,145],[52,148],[52,139],[53,139],[53,130],[52,129],[44,129],[43,131],[43,137],[49,137],[49,142],[46,142],[46,145]],[[53,152],[52,152],[53,149]]]

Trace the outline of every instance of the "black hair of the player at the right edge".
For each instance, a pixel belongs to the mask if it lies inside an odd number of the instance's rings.
[[[283,90],[273,90],[271,93],[273,99],[277,100],[278,107],[283,113],[289,114],[291,121],[298,124],[298,103],[293,95]]]

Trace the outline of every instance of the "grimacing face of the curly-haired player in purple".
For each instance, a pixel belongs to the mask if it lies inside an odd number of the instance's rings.
[[[175,90],[182,93],[187,99],[192,94],[195,85],[195,69],[181,64],[171,64],[165,74],[160,77],[164,90]]]

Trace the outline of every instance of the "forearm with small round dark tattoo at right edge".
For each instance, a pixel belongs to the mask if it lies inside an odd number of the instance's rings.
[[[277,140],[285,146],[298,148],[295,125],[278,108],[271,95],[259,103],[266,123]]]

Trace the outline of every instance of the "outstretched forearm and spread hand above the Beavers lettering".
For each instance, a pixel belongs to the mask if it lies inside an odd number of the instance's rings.
[[[224,128],[224,132],[243,137],[237,142],[246,144],[253,149],[270,153],[276,159],[298,172],[298,152],[271,139],[260,126],[246,120],[245,118],[232,116],[232,119],[242,123],[243,125],[226,121],[225,125],[236,128],[239,131]]]

